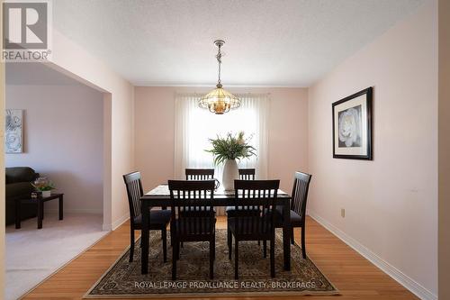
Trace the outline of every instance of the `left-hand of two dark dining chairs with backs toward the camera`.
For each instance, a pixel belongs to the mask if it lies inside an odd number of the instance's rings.
[[[210,278],[214,277],[215,223],[212,210],[214,180],[168,180],[172,221],[172,279],[176,279],[176,260],[180,259],[180,244],[189,241],[209,241]],[[203,214],[184,214],[186,208]],[[204,214],[210,212],[210,214]]]

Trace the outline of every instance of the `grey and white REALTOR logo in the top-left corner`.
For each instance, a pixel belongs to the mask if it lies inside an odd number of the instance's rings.
[[[4,1],[2,60],[49,60],[49,5],[48,1]]]

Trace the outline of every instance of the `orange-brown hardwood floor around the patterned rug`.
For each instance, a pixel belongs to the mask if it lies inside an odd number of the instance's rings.
[[[81,299],[129,245],[129,226],[129,223],[124,223],[120,228],[105,236],[91,249],[86,250],[65,268],[40,284],[24,299]],[[217,227],[226,228],[225,217],[219,217]],[[138,232],[136,233],[139,235]],[[329,296],[307,295],[304,296],[306,299],[419,299],[310,217],[307,218],[306,234],[309,257],[341,293],[341,295]],[[295,232],[295,241],[300,241],[300,231]],[[276,296],[277,299],[300,297]],[[242,297],[212,297],[212,299],[234,298]]]

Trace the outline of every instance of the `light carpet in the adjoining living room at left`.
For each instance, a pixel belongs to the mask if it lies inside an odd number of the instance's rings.
[[[99,214],[46,213],[43,228],[37,219],[22,222],[21,229],[6,227],[5,299],[20,298],[58,268],[100,240],[103,216]]]

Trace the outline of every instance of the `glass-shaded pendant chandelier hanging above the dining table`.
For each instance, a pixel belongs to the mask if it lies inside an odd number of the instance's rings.
[[[238,108],[240,105],[240,100],[238,97],[223,89],[220,81],[220,64],[222,63],[220,48],[224,43],[225,41],[221,40],[214,41],[214,44],[219,48],[216,55],[216,59],[219,64],[219,79],[217,81],[216,88],[214,88],[210,93],[203,95],[199,101],[200,107],[208,109],[214,114],[228,113],[230,109]]]

